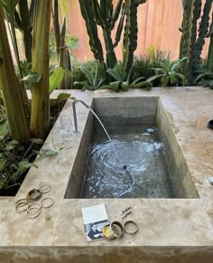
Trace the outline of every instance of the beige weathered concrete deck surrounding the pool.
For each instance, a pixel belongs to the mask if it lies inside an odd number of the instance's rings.
[[[69,159],[69,165],[57,164],[58,155],[38,158],[39,167],[30,170],[14,200],[0,200],[0,262],[210,263],[213,257],[213,187],[208,184],[208,177],[213,175],[213,130],[208,129],[207,122],[213,118],[213,91],[198,87],[133,89],[120,93],[70,91],[89,105],[95,97],[160,97],[199,198],[64,199],[88,118],[88,109],[78,104],[81,132],[73,133],[72,147],[61,151],[61,155]],[[61,114],[72,115],[71,100]],[[60,119],[43,147],[52,148],[51,138],[59,136],[59,128]],[[79,156],[79,162],[81,157],[84,156]],[[51,183],[51,193],[43,197],[51,196],[55,201],[53,206],[42,209],[35,219],[26,218],[24,212],[16,213],[14,202],[41,182]],[[81,208],[102,202],[106,204],[110,221],[117,219],[126,206],[132,206],[129,219],[137,221],[138,232],[132,236],[125,234],[121,240],[87,242]]]

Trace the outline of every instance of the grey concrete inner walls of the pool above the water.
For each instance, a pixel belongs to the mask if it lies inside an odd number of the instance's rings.
[[[176,198],[199,198],[190,179],[190,171],[181,153],[181,148],[173,134],[171,123],[159,97],[95,98],[92,101],[91,108],[101,119],[112,118],[116,124],[124,123],[126,119],[132,120],[133,123],[151,125],[157,123],[159,135],[165,147],[166,163],[169,167],[171,183],[175,192],[173,196]],[[89,113],[64,196],[66,199],[82,198],[93,122],[94,117]]]

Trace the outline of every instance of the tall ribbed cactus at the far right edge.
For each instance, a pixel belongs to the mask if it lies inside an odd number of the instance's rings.
[[[188,82],[194,84],[194,70],[201,62],[201,52],[208,33],[209,12],[212,0],[206,0],[202,16],[199,23],[199,33],[197,33],[197,23],[201,14],[201,0],[183,1],[183,19],[181,24],[181,45],[180,58],[188,57],[189,60],[183,66],[183,70],[188,74]]]

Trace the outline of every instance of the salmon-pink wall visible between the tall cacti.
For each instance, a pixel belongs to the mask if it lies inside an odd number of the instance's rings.
[[[65,1],[66,2],[66,1]],[[115,0],[115,3],[117,0]],[[144,54],[153,45],[162,51],[172,51],[172,58],[179,56],[182,21],[181,0],[147,0],[138,9],[138,48],[135,54]],[[204,1],[203,1],[204,2]],[[79,0],[69,0],[69,33],[79,38],[79,49],[73,52],[79,61],[93,60],[88,44],[88,34],[79,9]],[[99,34],[100,39],[102,35]],[[208,42],[208,41],[207,41]],[[202,56],[207,53],[207,45]],[[116,48],[117,58],[122,58],[121,46]]]

